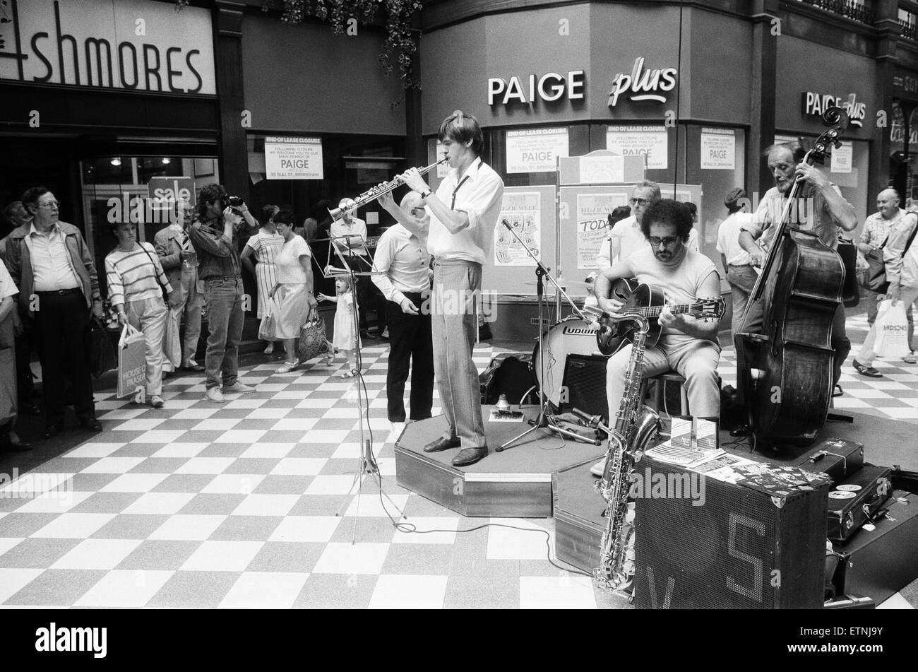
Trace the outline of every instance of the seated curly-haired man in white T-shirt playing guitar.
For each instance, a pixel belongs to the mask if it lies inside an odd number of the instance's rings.
[[[641,230],[648,241],[643,249],[620,259],[596,278],[599,308],[615,314],[621,302],[605,298],[611,282],[637,278],[664,292],[668,304],[689,304],[696,299],[721,297],[721,279],[714,263],[700,252],[689,250],[692,219],[689,211],[674,200],[664,199],[649,205],[641,219]],[[719,419],[721,391],[717,364],[721,346],[717,342],[720,319],[696,319],[674,315],[668,308],[660,311],[663,328],[657,344],[644,352],[644,375],[677,371],[686,379],[689,410],[696,418]],[[613,354],[606,365],[606,393],[609,416],[615,418],[625,388],[625,375],[632,346]]]

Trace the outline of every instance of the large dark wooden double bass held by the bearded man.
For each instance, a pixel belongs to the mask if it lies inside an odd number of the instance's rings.
[[[822,163],[847,127],[848,116],[831,107],[823,132],[803,162]],[[765,297],[762,333],[734,336],[740,398],[756,444],[806,447],[823,428],[833,391],[835,310],[842,301],[845,268],[841,257],[815,233],[790,223],[803,184],[792,185],[771,249],[749,306]]]

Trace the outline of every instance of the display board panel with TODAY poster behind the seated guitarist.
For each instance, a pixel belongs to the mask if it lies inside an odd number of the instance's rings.
[[[567,293],[571,297],[585,297],[583,280],[594,270],[595,263],[588,265],[585,261],[588,251],[595,246],[594,239],[599,238],[602,220],[606,218],[601,210],[627,205],[631,196],[633,183],[623,185],[570,185],[558,190],[560,206],[559,218],[559,252],[558,268],[564,274],[570,286]],[[664,198],[673,197],[673,185],[660,185]],[[676,185],[676,200],[701,203],[700,185]],[[609,210],[611,212],[611,210]],[[701,212],[699,211],[699,220]],[[595,232],[595,233],[594,233]],[[601,235],[604,239],[605,236]],[[594,254],[595,260],[595,254]]]

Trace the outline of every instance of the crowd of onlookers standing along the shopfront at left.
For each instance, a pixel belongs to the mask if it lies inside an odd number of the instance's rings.
[[[31,447],[19,439],[15,423],[18,413],[42,412],[32,375],[33,350],[41,366],[44,438],[63,430],[67,405],[73,405],[84,428],[102,429],[95,418],[88,352],[91,322],[104,328],[106,310],[114,316],[108,326],[130,325],[143,333],[145,381],[132,402],[162,408],[163,375],[179,369],[206,372],[206,398],[215,403],[225,401],[226,393],[252,391],[238,379],[243,311],[248,309],[243,267],[256,281],[258,318],[270,327],[265,353],[274,351],[274,342],[283,342],[285,362],[278,371],[296,369],[300,329],[319,317],[308,241],[333,236],[337,252],[369,259],[364,222],[348,212],[333,223],[332,206],[319,202],[297,228],[289,209],[265,206],[256,219],[222,185],[207,185],[196,206],[186,200],[174,203],[170,223],[156,232],[152,244],[138,240],[136,224],[110,223],[115,245],[99,269],[83,233],[60,219],[57,197],[46,187],[28,189],[3,211],[0,451]],[[103,271],[106,298],[99,277]],[[358,282],[358,294],[367,281]],[[335,297],[320,296],[338,301],[335,346],[348,361],[343,377],[350,377],[358,339],[350,319],[352,278],[340,278],[336,285]],[[196,360],[202,313],[207,318],[204,364]],[[365,334],[363,310],[360,323]],[[334,353],[327,345],[325,363],[332,364]]]

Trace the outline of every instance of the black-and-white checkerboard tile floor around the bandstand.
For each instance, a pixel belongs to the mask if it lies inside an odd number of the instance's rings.
[[[863,339],[866,324],[850,326]],[[491,356],[476,348],[479,370]],[[0,488],[0,604],[628,608],[546,560],[551,519],[466,519],[396,485],[402,427],[386,420],[386,357],[364,351],[382,490],[415,529],[438,532],[397,530],[369,481],[348,497],[361,441],[354,381],[321,364],[284,375],[257,364],[241,378],[257,391],[221,406],[203,400],[201,375],[167,381],[164,409],[97,395],[105,431]],[[734,367],[727,349],[724,382]],[[878,368],[882,384],[848,368],[837,406],[918,422],[918,366]],[[56,489],[62,475],[71,492]],[[918,605],[912,588],[887,606]]]

